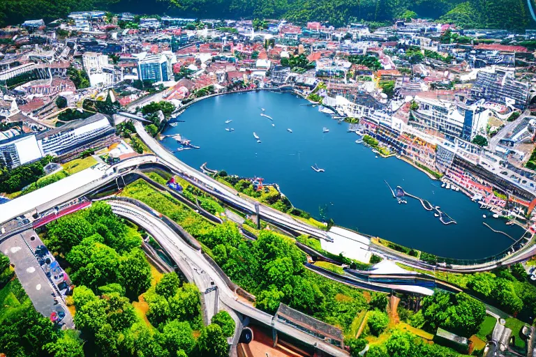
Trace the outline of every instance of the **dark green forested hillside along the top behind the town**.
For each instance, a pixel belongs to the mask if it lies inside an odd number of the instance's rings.
[[[334,26],[418,16],[465,28],[523,30],[536,27],[527,1],[536,8],[535,0],[0,0],[0,23],[55,20],[70,11],[98,8],[184,17],[329,21]]]

